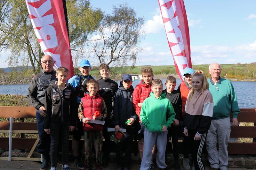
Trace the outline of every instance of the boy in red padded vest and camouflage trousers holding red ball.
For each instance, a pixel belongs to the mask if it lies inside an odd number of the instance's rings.
[[[103,121],[107,116],[107,108],[104,100],[98,94],[99,82],[90,79],[87,83],[87,90],[89,94],[81,99],[78,108],[78,117],[83,122],[84,129],[84,147],[85,147],[85,165],[84,170],[91,170],[92,164],[90,162],[92,156],[92,148],[96,152],[97,170],[102,170],[102,130],[103,125],[91,123],[90,119]],[[100,112],[100,115],[95,115],[94,112]],[[97,116],[97,117],[96,117]]]

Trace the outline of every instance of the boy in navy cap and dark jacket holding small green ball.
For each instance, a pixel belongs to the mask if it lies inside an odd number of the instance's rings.
[[[117,170],[122,170],[122,166],[124,166],[124,170],[128,170],[131,163],[134,122],[137,120],[137,115],[132,104],[132,93],[132,76],[125,74],[115,94],[112,124],[115,125],[116,133],[118,133],[120,128],[124,128],[129,134],[129,137],[116,146]],[[124,148],[125,156],[122,160]]]

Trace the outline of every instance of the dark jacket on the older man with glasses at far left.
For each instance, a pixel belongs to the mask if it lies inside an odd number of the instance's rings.
[[[47,87],[58,80],[55,74],[56,71],[48,73],[43,70],[31,79],[28,87],[27,100],[37,110],[45,105],[45,92]]]

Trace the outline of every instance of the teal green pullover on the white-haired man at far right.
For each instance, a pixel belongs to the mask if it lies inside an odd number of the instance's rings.
[[[212,78],[208,79],[209,91],[213,98],[213,115],[212,119],[223,119],[230,117],[230,112],[234,118],[240,113],[236,92],[230,80],[221,78],[214,85]]]

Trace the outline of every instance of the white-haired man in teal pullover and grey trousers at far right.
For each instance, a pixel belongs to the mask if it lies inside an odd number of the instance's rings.
[[[236,92],[228,79],[220,77],[221,67],[218,63],[209,66],[211,78],[208,79],[209,91],[213,98],[212,123],[206,137],[206,149],[212,170],[226,170],[228,167],[228,140],[230,136],[230,112],[233,124],[238,125],[240,113]],[[219,149],[217,149],[217,144]]]

